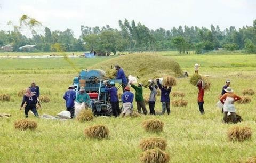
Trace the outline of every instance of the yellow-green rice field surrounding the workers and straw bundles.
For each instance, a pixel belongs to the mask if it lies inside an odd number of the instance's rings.
[[[223,124],[221,111],[215,107],[227,78],[231,80],[231,87],[238,95],[242,95],[243,89],[247,88],[255,91],[255,55],[180,56],[174,52],[169,53],[156,54],[173,58],[189,74],[193,73],[194,64],[199,63],[200,74],[215,76],[210,77],[211,90],[205,92],[205,115],[199,114],[197,88],[189,84],[189,78],[180,78],[172,91],[185,93],[188,105],[185,108],[171,106],[170,116],[95,117],[93,121],[82,124],[76,120],[44,120],[29,115],[38,123],[34,132],[17,131],[13,127],[14,121],[24,117],[23,111],[19,111],[22,99],[17,96],[17,92],[28,87],[30,81],[36,80],[41,94],[49,96],[51,100],[42,103],[39,114],[56,115],[66,109],[62,96],[78,73],[63,58],[0,59],[0,94],[11,95],[10,102],[0,101],[0,112],[12,114],[11,118],[0,118],[0,162],[139,162],[142,153],[140,140],[154,136],[166,138],[166,152],[170,154],[170,162],[230,162],[256,156],[255,95],[250,104],[235,103],[237,113],[244,119],[238,125],[252,128],[251,140],[229,142],[226,132],[233,125]],[[107,59],[70,60],[77,68],[86,69]],[[145,88],[143,92],[149,94],[149,89]],[[156,110],[161,111],[159,97]],[[148,133],[143,130],[142,121],[151,118],[164,122],[164,132]],[[99,141],[86,138],[83,135],[84,129],[94,124],[106,125],[109,128],[109,139]]]

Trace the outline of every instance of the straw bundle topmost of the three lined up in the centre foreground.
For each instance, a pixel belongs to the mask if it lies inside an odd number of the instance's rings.
[[[147,132],[162,132],[164,129],[164,123],[158,119],[143,121],[142,126]]]

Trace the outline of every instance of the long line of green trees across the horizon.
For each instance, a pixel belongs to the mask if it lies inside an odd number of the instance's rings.
[[[119,20],[119,29],[109,25],[103,27],[81,26],[77,39],[71,29],[51,31],[44,28],[44,35],[32,30],[32,37],[22,35],[19,29],[0,31],[0,46],[12,44],[14,51],[23,45],[36,45],[38,51],[95,51],[99,55],[117,52],[169,51],[179,53],[204,53],[225,48],[228,51],[244,50],[256,53],[256,20],[252,26],[236,29],[230,26],[224,30],[211,25],[210,29],[197,26],[179,26],[170,30],[150,30],[140,22]]]

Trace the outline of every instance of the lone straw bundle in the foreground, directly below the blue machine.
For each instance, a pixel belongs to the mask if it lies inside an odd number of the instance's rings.
[[[94,125],[84,130],[84,135],[90,138],[108,138],[109,130],[104,125]]]

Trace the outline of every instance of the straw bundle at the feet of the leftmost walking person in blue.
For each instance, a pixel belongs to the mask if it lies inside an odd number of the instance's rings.
[[[22,131],[26,129],[34,130],[37,127],[37,122],[29,119],[22,119],[22,120],[15,121],[14,127]]]

